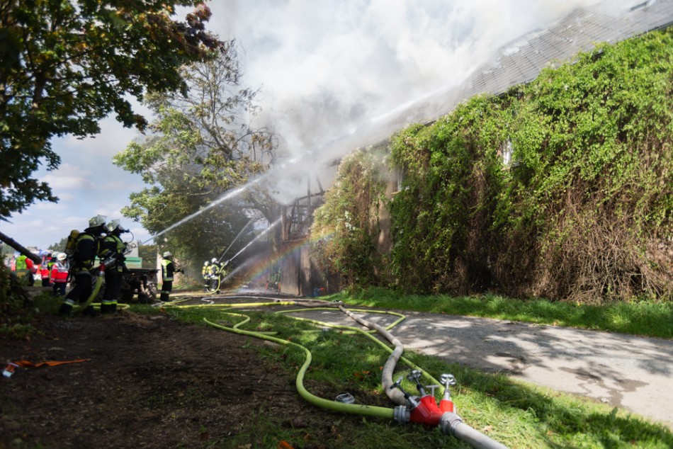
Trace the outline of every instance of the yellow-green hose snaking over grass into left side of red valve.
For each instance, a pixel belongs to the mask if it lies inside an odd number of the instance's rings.
[[[328,399],[322,399],[322,397],[317,397],[315,396],[315,394],[312,394],[308,390],[306,390],[306,388],[304,387],[304,374],[306,373],[306,370],[311,364],[312,356],[311,351],[309,351],[304,346],[301,346],[300,344],[297,343],[293,343],[292,341],[287,341],[283,339],[278,339],[273,336],[260,334],[259,332],[244,331],[242,329],[235,329],[234,327],[222,326],[220,324],[210,322],[208,321],[208,319],[205,318],[203,319],[203,321],[206,324],[209,324],[210,326],[217,327],[217,329],[233,332],[234,334],[254,336],[258,339],[273,341],[275,343],[280,343],[286,346],[294,346],[295,348],[302,349],[302,351],[304,351],[305,354],[305,360],[304,364],[299,370],[299,373],[297,374],[297,380],[295,381],[295,386],[297,387],[297,391],[299,392],[300,396],[304,398],[307,402],[310,402],[311,404],[314,404],[317,407],[322,407],[324,409],[334,411],[340,411],[342,413],[361,414],[366,416],[377,416],[379,418],[385,418],[385,419],[393,419],[394,415],[393,409],[388,409],[385,407],[360,405],[360,404],[343,404],[341,402],[329,401]]]

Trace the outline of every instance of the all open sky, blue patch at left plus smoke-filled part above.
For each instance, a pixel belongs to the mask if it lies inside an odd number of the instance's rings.
[[[262,113],[253,125],[276,132],[283,169],[273,182],[293,195],[285,168],[319,169],[329,159],[371,142],[377,126],[433,93],[460,85],[507,42],[544,28],[578,6],[599,0],[215,0],[208,29],[235,39],[244,84],[259,89]],[[615,3],[615,2],[613,2]],[[622,1],[628,4],[628,1]],[[630,2],[633,3],[633,2]],[[139,108],[141,112],[142,108]],[[389,134],[395,130],[390,130]],[[37,175],[58,203],[37,202],[0,232],[23,246],[46,249],[84,229],[89,218],[120,219],[136,240],[152,241],[121,215],[145,185],[115,166],[113,156],[137,131],[106,118],[101,133],[52,141],[62,163]],[[344,144],[349,142],[344,148]],[[288,187],[288,188],[286,188]],[[327,187],[327,186],[324,186]],[[282,195],[285,193],[285,195]]]

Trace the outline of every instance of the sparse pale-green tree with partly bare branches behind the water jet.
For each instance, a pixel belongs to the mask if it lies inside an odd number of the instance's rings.
[[[197,214],[157,241],[196,264],[222,256],[251,216],[251,200],[222,195],[261,174],[273,160],[266,130],[243,117],[256,113],[256,91],[240,86],[235,42],[224,43],[217,59],[183,67],[186,93],[157,93],[147,99],[155,120],[142,140],[115,156],[115,164],[141,174],[149,187],[132,193],[126,217],[158,234]],[[251,232],[248,230],[248,232]],[[251,236],[244,235],[238,246]]]

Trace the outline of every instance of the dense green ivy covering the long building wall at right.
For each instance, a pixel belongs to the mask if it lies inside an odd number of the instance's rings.
[[[672,56],[672,29],[599,45],[393,136],[405,176],[389,205],[389,280],[421,293],[670,300]]]

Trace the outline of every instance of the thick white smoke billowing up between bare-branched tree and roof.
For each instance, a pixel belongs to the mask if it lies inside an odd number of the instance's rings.
[[[210,4],[210,26],[237,40],[244,82],[260,88],[254,123],[279,137],[287,168],[274,182],[287,199],[302,195],[290,171],[385,139],[406,108],[459,86],[502,45],[599,3],[229,0]]]

